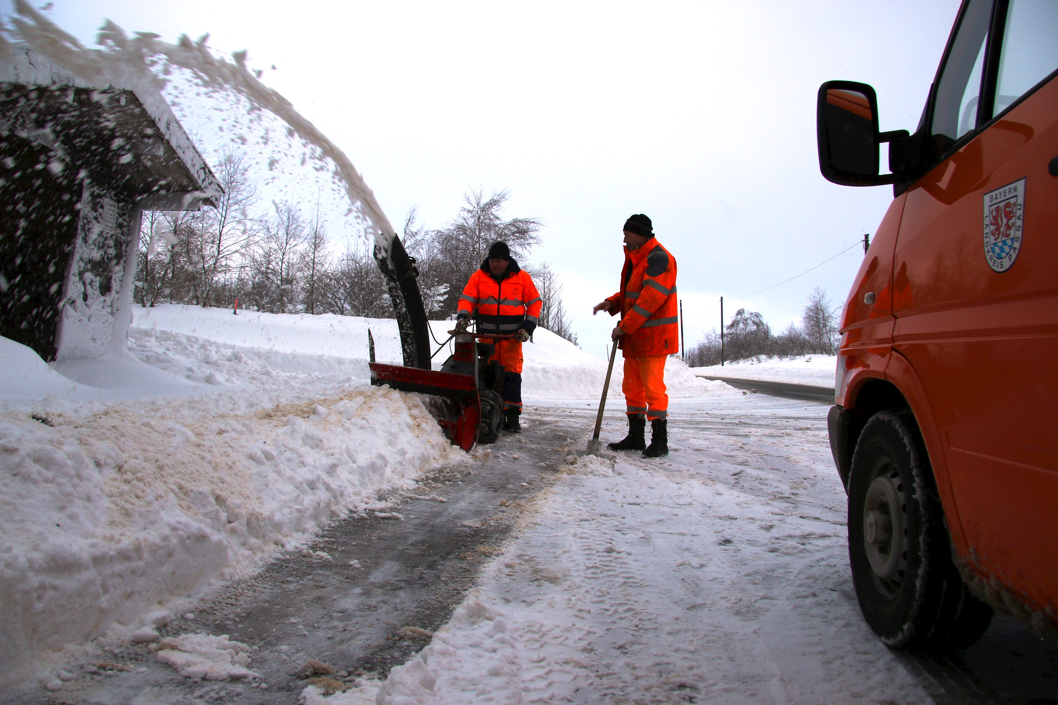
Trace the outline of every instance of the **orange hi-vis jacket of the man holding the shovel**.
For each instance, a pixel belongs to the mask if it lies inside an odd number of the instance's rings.
[[[655,238],[639,249],[625,246],[621,291],[606,300],[609,315],[621,314],[622,355],[654,357],[679,350],[676,259]]]

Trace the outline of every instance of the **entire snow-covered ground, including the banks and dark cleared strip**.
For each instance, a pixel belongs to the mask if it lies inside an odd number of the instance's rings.
[[[417,397],[367,386],[362,359],[298,328],[345,331],[351,350],[381,323],[157,313],[172,320],[133,329],[138,368],[67,370],[71,387],[23,355],[0,375],[0,672],[22,674],[0,686],[3,705],[1058,692],[1058,648],[1017,623],[935,661],[868,630],[825,404],[670,360],[672,454],[572,463],[596,404],[577,396],[604,366],[542,335],[527,392],[552,396],[527,398],[526,432],[482,464]],[[253,338],[284,323],[278,342]],[[129,388],[117,368],[157,384]],[[623,430],[612,397],[603,438]],[[333,666],[314,667],[332,676],[323,690],[310,658]]]

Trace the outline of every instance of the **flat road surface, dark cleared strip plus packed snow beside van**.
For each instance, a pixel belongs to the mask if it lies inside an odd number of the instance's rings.
[[[403,493],[402,520],[335,522],[311,546],[332,560],[289,553],[164,628],[255,647],[267,689],[186,679],[129,645],[71,666],[58,691],[0,702],[376,702],[381,681],[369,676],[387,673],[384,701],[405,703],[1027,703],[1058,692],[1058,652],[1016,624],[998,620],[949,663],[877,642],[849,579],[825,405],[674,400],[672,454],[616,464],[565,461],[583,447],[594,403],[527,407],[525,432],[505,435],[487,463],[441,468]],[[621,426],[612,404],[604,438]],[[439,633],[431,644],[416,630]],[[359,685],[320,700],[306,690],[309,658]],[[116,667],[91,673],[101,663]]]

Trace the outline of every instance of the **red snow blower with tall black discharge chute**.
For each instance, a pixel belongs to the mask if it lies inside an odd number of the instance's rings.
[[[444,435],[463,450],[470,450],[475,443],[492,443],[499,437],[503,422],[500,391],[504,368],[495,361],[488,363],[493,346],[477,342],[477,339],[512,336],[452,331],[455,352],[440,371],[433,370],[430,324],[416,281],[419,271],[415,266],[415,258],[408,256],[396,235],[380,238],[380,241],[375,245],[375,261],[386,279],[389,299],[397,314],[404,365],[376,363],[375,342],[368,331],[371,384],[428,394],[426,408],[437,419]]]

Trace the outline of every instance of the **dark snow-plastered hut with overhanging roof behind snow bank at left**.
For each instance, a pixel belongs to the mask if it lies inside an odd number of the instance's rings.
[[[152,76],[0,61],[0,334],[43,359],[125,348],[143,210],[221,193]]]

